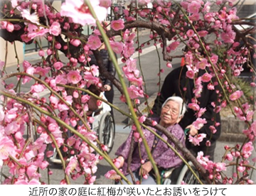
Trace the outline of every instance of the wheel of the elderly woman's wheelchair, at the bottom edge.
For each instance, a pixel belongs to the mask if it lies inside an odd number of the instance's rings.
[[[188,165],[191,166],[191,168],[194,170],[197,176],[199,176],[198,171],[196,170],[196,167],[193,165],[191,161],[188,162]],[[188,168],[187,165],[184,165],[180,175],[178,176],[177,185],[181,185],[181,182],[184,182],[187,185],[198,185],[199,182],[196,179],[195,175],[191,172],[191,170]]]

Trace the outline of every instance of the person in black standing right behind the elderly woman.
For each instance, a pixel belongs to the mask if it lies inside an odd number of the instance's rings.
[[[166,76],[164,84],[161,87],[160,95],[156,97],[154,101],[154,106],[152,108],[152,111],[154,112],[153,116],[159,115],[161,104],[174,94],[182,97],[186,104],[193,102],[195,97],[193,93],[194,82],[186,77],[187,70],[186,66],[178,67]],[[198,77],[205,72],[206,70],[199,70]],[[188,112],[186,112],[179,124],[184,130],[190,129],[188,134],[191,134],[191,136],[196,136],[196,134],[206,134],[206,138],[201,141],[200,146],[194,146],[193,143],[187,139],[186,147],[194,156],[197,156],[199,151],[203,151],[204,156],[209,156],[210,160],[214,160],[216,141],[220,137],[220,114],[215,113],[215,107],[213,107],[214,104],[217,103],[218,94],[216,94],[215,90],[208,89],[208,82],[202,82],[202,85],[201,97],[198,97],[197,100],[199,107],[206,109],[205,113],[201,116],[201,119],[206,119],[207,123],[204,124],[201,129],[197,130],[195,126],[193,126],[193,122],[197,119],[196,111],[188,109]]]

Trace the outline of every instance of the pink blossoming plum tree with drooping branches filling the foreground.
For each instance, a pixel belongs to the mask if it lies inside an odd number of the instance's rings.
[[[127,104],[129,114],[120,112],[133,119],[132,131],[137,141],[147,146],[140,127],[156,126],[175,143],[187,160],[193,162],[208,183],[253,183],[247,174],[255,169],[248,159],[256,136],[256,124],[252,118],[254,107],[250,107],[248,102],[241,102],[243,93],[232,83],[230,76],[240,75],[245,63],[255,72],[252,60],[255,58],[256,45],[251,41],[254,38],[248,36],[255,30],[255,24],[240,21],[233,6],[234,0],[217,0],[216,11],[210,10],[213,4],[210,1],[159,0],[152,1],[152,6],[148,7],[149,2],[132,1],[127,9],[120,12],[120,7],[114,7],[110,0],[65,0],[58,12],[52,6],[53,1],[1,1],[0,31],[4,40],[11,43],[21,41],[25,44],[36,41],[40,45],[40,40],[44,37],[50,45],[46,57],[45,51],[39,50],[40,62],[31,64],[24,60],[21,62],[22,69],[18,65],[17,72],[6,72],[6,63],[1,60],[0,167],[9,170],[9,175],[1,173],[5,177],[1,183],[46,183],[39,180],[41,175],[38,168],[45,170],[48,167],[47,158],[53,156],[53,150],[49,146],[55,148],[63,164],[65,179],[60,183],[69,184],[70,176],[73,179],[85,178],[85,184],[94,183],[97,161],[102,158],[113,168],[107,173],[107,178],[126,179],[115,166],[118,161],[112,160],[105,153],[106,146],[100,144],[95,130],[91,129],[93,119],[87,116],[90,97],[101,99],[87,89],[90,85],[101,87],[99,74],[113,82],[120,92],[120,99]],[[114,13],[114,20],[110,24],[104,21],[107,9],[112,9]],[[138,17],[142,20],[137,20]],[[235,27],[242,24],[251,25],[252,28],[239,30]],[[86,25],[95,27],[89,36],[82,34],[82,28]],[[137,60],[132,58],[136,50],[143,53],[145,45],[143,43],[137,49],[134,48],[138,28],[150,30],[147,43],[161,43],[167,67],[171,67],[174,58],[185,58],[188,67],[186,77],[193,79],[196,84],[194,100],[201,96],[202,82],[209,82],[210,90],[216,90],[215,87],[220,86],[220,105],[215,104],[215,112],[220,112],[220,109],[230,103],[235,104],[235,108],[232,108],[235,116],[247,124],[247,129],[241,130],[246,139],[241,146],[227,146],[220,163],[213,163],[202,154],[198,154],[197,159],[194,158],[166,129],[146,119],[138,110],[139,99],[143,98],[147,102],[144,79],[137,68]],[[213,41],[205,39],[210,35],[214,36]],[[116,37],[120,39],[117,40]],[[102,65],[98,51],[102,41],[114,62],[117,78],[108,74]],[[244,44],[241,46],[240,43]],[[182,44],[187,45],[186,53],[172,55]],[[205,56],[198,53],[199,48]],[[225,50],[221,58],[218,55],[220,48]],[[60,59],[60,53],[65,54],[68,63]],[[90,65],[90,69],[85,69],[90,64],[89,55],[92,53],[98,66]],[[122,70],[117,65],[114,53],[124,62]],[[205,70],[206,67],[210,71],[203,77],[197,77],[198,70]],[[15,85],[8,82],[10,78],[16,78]],[[124,80],[132,85],[127,87]],[[20,92],[20,86],[27,82],[33,82],[30,90]],[[251,85],[255,87],[254,82]],[[46,90],[50,92],[50,96],[39,97],[38,94]],[[114,105],[112,107],[117,109]],[[196,101],[188,103],[188,107],[197,112],[198,120],[195,125],[203,126],[206,121],[200,119],[200,116],[206,109],[198,107]],[[212,130],[214,134],[214,126]],[[73,135],[68,136],[68,131]],[[195,145],[201,140],[201,137],[191,138]],[[68,152],[70,156],[63,156],[60,150]],[[154,170],[158,173],[153,158],[149,151],[148,153]],[[234,165],[234,158],[237,169],[233,176],[228,177],[224,171],[226,167]],[[253,160],[256,161],[255,158]],[[156,180],[159,183],[159,175]]]

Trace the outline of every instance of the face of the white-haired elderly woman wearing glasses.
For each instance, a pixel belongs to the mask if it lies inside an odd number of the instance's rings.
[[[164,107],[161,109],[160,115],[160,125],[167,127],[178,123],[181,120],[181,116],[178,117],[179,114],[179,105],[178,103],[170,100],[167,102]]]

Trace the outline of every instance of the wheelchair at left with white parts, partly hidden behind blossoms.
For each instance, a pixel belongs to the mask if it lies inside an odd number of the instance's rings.
[[[107,100],[104,95],[102,99]],[[107,146],[107,153],[112,151],[115,136],[115,124],[110,111],[111,107],[105,102],[102,102],[102,106],[99,109],[92,111],[92,114],[90,115],[94,118],[94,121],[91,124],[91,129],[97,133],[97,138],[100,143]],[[53,150],[53,156],[50,157],[50,161],[52,163],[61,164],[61,160],[58,158],[58,153],[55,148]]]

